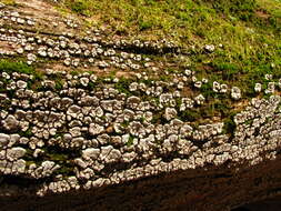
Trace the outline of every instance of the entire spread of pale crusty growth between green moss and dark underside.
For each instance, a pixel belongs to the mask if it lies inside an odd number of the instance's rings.
[[[167,40],[82,29],[0,3],[0,197],[239,172],[280,153],[280,77],[262,74],[245,90],[198,73]]]

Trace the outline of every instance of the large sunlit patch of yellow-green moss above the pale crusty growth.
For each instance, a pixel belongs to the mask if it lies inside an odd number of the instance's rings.
[[[112,36],[174,41],[189,49],[192,70],[241,87],[249,97],[265,73],[281,77],[279,0],[66,0],[62,8],[107,26]],[[204,44],[215,51],[205,53]],[[126,92],[127,86],[118,87]]]

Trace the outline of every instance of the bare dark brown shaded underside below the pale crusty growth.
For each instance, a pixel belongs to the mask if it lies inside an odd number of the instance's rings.
[[[12,179],[10,179],[12,182]],[[2,198],[2,210],[230,210],[280,194],[281,159],[255,167],[178,171],[43,198]],[[255,207],[257,208],[257,207]]]

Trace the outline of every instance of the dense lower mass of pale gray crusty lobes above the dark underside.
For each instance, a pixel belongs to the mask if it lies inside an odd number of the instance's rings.
[[[180,110],[200,107],[203,97],[163,91],[160,81],[132,82],[128,97],[114,88],[117,79],[90,88],[97,78],[89,73],[64,73],[62,88],[56,90],[53,74],[48,70],[43,91],[27,87],[31,76],[1,74],[9,82],[0,96],[0,171],[49,178],[38,184],[39,195],[227,161],[253,165],[274,159],[280,145],[279,96],[252,99],[233,117],[235,127],[229,134],[222,121],[193,125],[180,120]]]

